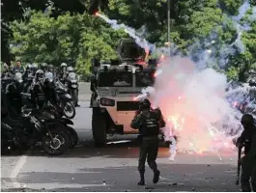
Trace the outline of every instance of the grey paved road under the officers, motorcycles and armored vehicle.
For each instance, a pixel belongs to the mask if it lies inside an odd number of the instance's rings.
[[[215,153],[178,153],[168,160],[168,149],[160,148],[158,168],[161,179],[153,184],[153,174],[146,171],[146,186],[139,187],[138,148],[134,136],[114,136],[109,144],[95,149],[91,132],[89,102],[82,102],[74,119],[80,143],[61,156],[48,156],[39,149],[1,158],[2,191],[239,191],[235,185],[236,155]]]

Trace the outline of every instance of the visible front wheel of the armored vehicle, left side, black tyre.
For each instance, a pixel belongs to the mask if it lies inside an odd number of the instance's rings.
[[[106,123],[104,114],[100,113],[100,108],[93,108],[92,129],[95,146],[104,147],[106,145]]]

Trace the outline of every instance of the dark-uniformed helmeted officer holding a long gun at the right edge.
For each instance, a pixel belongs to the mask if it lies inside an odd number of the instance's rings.
[[[244,156],[242,157],[242,176],[241,185],[243,192],[250,192],[250,182],[252,190],[256,191],[256,126],[253,117],[249,114],[242,116],[242,126],[244,130],[237,141],[237,147],[244,147]]]

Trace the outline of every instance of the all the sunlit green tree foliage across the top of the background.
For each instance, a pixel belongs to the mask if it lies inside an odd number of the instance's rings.
[[[89,7],[90,0],[81,2]],[[211,37],[217,50],[215,57],[219,59],[221,48],[237,38],[230,15],[237,15],[242,3],[243,0],[171,0],[171,41],[185,54],[194,42]],[[107,8],[102,7],[106,15],[119,23],[135,29],[145,25],[143,38],[157,46],[167,41],[167,0],[108,0]],[[47,13],[27,11],[24,19],[12,22],[14,37],[10,43],[16,57],[56,66],[68,62],[80,73],[88,73],[93,57],[115,58],[118,41],[127,37],[124,31],[114,31],[99,17],[59,11],[56,15],[58,8],[54,9],[53,5],[48,8]],[[256,64],[256,22],[251,20],[251,12],[242,19],[242,23],[251,25],[251,30],[242,34],[246,49],[229,58],[226,73],[230,79],[244,80],[246,71]],[[216,68],[219,66],[216,61],[209,65],[222,71]]]

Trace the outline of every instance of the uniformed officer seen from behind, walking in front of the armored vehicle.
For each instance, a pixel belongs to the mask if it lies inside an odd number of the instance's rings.
[[[150,168],[154,171],[153,182],[157,183],[160,172],[157,170],[156,157],[158,152],[158,134],[159,127],[164,126],[161,112],[159,109],[152,110],[151,103],[148,99],[144,99],[139,104],[139,112],[131,121],[130,126],[139,129],[140,152],[138,170],[140,173],[140,181],[138,185],[145,185],[144,173],[146,158]]]

